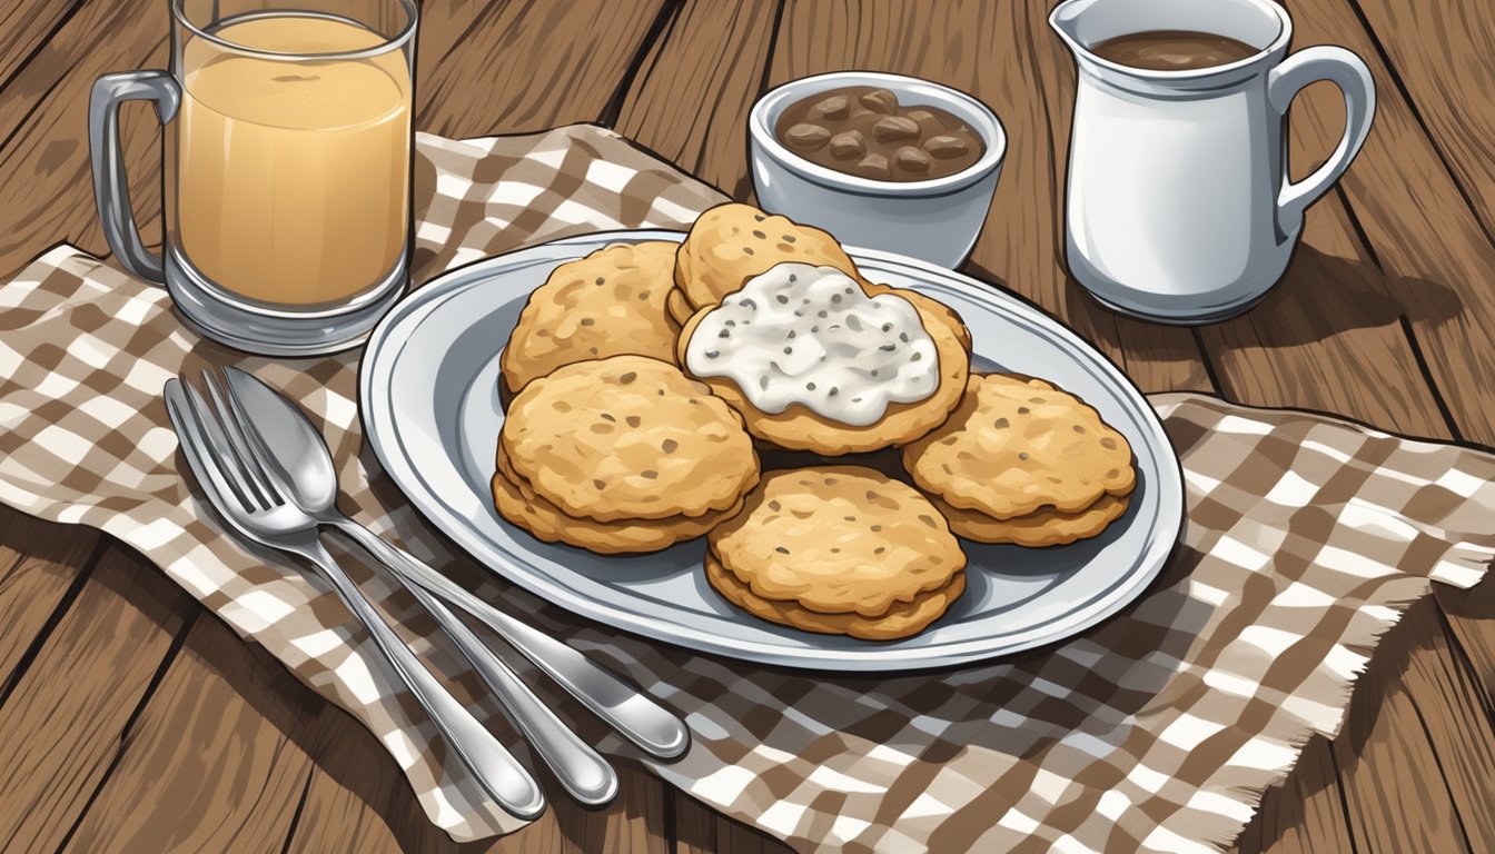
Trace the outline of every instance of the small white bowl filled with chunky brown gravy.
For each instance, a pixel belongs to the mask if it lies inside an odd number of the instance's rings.
[[[762,96],[748,148],[764,209],[843,244],[952,268],[985,223],[1006,133],[990,108],[958,90],[834,72]]]

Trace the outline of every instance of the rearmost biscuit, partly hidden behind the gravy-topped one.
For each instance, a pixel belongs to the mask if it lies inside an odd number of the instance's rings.
[[[821,229],[728,202],[706,211],[691,226],[676,254],[674,283],[692,308],[706,308],[785,262],[833,266],[860,278],[846,250]]]

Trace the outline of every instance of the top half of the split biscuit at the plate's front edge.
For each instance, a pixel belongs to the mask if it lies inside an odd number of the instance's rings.
[[[758,598],[867,619],[946,588],[966,567],[918,491],[854,465],[765,476],[707,541]]]

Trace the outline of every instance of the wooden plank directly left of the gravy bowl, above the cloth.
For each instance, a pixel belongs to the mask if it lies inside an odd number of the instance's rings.
[[[748,112],[785,1],[688,1],[628,87],[617,132],[727,194],[749,197]]]

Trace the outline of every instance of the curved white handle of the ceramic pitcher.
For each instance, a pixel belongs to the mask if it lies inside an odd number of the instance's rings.
[[[1286,115],[1298,93],[1319,81],[1332,82],[1344,96],[1344,136],[1325,165],[1296,184],[1289,181],[1287,160],[1283,159],[1277,221],[1286,233],[1298,230],[1308,205],[1317,202],[1350,168],[1371,132],[1371,120],[1375,118],[1375,81],[1371,69],[1365,67],[1360,57],[1329,45],[1304,48],[1272,69],[1266,79],[1266,97],[1278,114]]]

